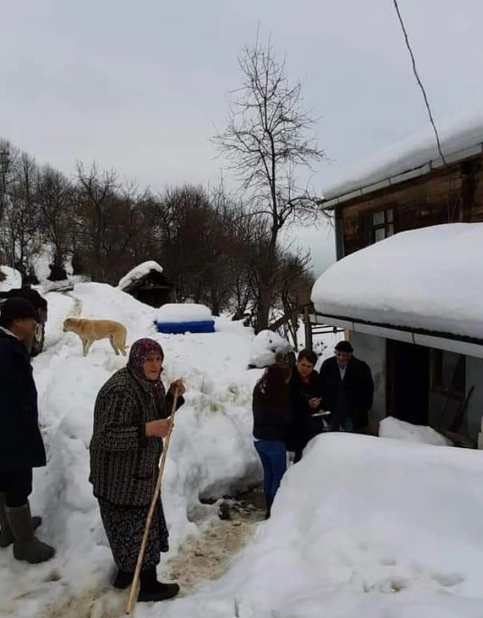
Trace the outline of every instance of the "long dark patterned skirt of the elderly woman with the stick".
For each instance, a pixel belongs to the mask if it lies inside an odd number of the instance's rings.
[[[127,507],[99,498],[99,509],[117,568],[134,573],[149,505]],[[163,504],[159,498],[152,516],[142,568],[157,566],[160,560],[159,552],[167,552],[168,549],[168,528],[164,519]]]

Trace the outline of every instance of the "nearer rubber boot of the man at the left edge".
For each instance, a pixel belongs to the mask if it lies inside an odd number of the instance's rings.
[[[26,560],[30,564],[38,564],[50,560],[54,556],[55,549],[47,543],[39,541],[34,535],[28,502],[22,507],[6,507],[6,514],[15,538],[13,556],[17,560]]]

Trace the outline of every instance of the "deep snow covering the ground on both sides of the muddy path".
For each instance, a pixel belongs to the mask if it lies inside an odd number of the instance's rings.
[[[182,377],[164,480],[171,555],[198,535],[200,496],[256,482],[247,370],[252,332],[217,320],[217,332],[161,335],[155,310],[119,289],[49,293],[46,350],[34,359],[48,466],[34,475],[38,535],[57,547],[29,566],[0,549],[0,614],[113,618],[127,594],[109,587],[112,558],[87,478],[92,410],[101,384],[125,359],[107,341],[82,358],[62,332],[69,314],[113,318],[128,344],[150,335],[166,352],[167,382]],[[221,579],[166,603],[138,604],[141,618],[481,618],[481,451],[346,434],[313,440],[289,468],[273,506]],[[215,539],[215,537],[213,537]],[[166,556],[163,556],[163,564]],[[183,562],[180,561],[181,568]]]

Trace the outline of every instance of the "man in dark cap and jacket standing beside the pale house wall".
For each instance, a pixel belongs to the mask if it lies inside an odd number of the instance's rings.
[[[335,352],[320,370],[322,405],[331,412],[329,431],[361,433],[373,405],[373,377],[368,365],[355,358],[350,342],[338,342]]]

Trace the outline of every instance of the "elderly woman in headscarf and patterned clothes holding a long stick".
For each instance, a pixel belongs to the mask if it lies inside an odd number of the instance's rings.
[[[185,387],[174,381],[165,393],[160,376],[164,353],[153,339],[138,339],[127,367],[117,371],[99,391],[90,444],[94,496],[117,565],[116,588],[133,579],[147,511],[159,470],[163,438],[168,433],[173,397],[184,402]],[[178,584],[157,581],[159,552],[168,551],[168,529],[161,496],[154,512],[140,572],[138,601],[161,601],[178,594]]]

